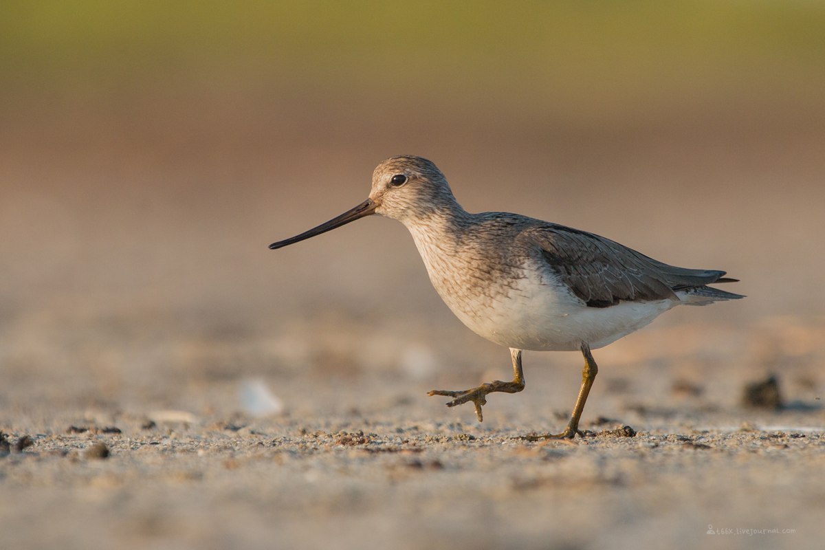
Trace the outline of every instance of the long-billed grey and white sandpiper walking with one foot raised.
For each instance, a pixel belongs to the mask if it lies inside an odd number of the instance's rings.
[[[676,305],[743,298],[707,284],[735,282],[721,270],[669,266],[605,237],[507,212],[469,214],[436,165],[391,157],[372,175],[367,200],[271,249],[380,214],[413,235],[432,285],[470,330],[510,348],[513,379],[463,391],[432,390],[473,402],[479,422],[488,393],[521,392],[522,350],[578,350],[582,387],[567,428],[540,438],[573,438],[598,368],[591,350],[644,327]],[[530,439],[535,439],[535,436]]]

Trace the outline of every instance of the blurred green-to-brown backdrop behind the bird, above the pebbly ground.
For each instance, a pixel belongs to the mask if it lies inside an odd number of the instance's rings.
[[[812,398],[823,29],[825,7],[801,1],[6,2],[0,405],[223,411],[249,376],[309,395],[330,377],[404,393],[399,374],[425,402],[506,376],[399,223],[266,249],[364,200],[401,153],[436,162],[470,211],[742,279],[726,289],[747,300],[601,351],[615,376],[669,368],[729,403],[723,378],[782,371]],[[566,409],[579,357],[529,361],[575,367],[552,378]]]

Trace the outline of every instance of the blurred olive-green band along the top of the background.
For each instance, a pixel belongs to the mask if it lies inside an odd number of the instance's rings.
[[[5,2],[2,94],[266,87],[527,118],[813,106],[820,2]]]

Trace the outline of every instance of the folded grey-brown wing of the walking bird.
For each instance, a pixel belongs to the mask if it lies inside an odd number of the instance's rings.
[[[539,247],[539,261],[592,308],[676,299],[676,290],[732,281],[721,278],[724,271],[668,266],[605,237],[554,223],[526,229],[521,237]]]

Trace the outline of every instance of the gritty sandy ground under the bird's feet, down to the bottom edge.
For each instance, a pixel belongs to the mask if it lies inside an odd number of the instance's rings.
[[[527,443],[392,415],[115,421],[3,458],[8,548],[815,548],[821,532],[825,439],[801,428]]]

